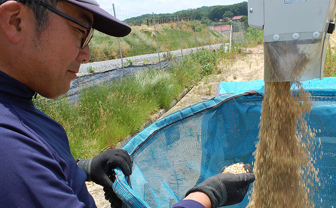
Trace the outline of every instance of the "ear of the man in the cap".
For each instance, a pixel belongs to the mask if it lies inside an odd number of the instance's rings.
[[[14,0],[0,5],[0,29],[11,43],[19,43],[21,38],[21,13],[23,4]]]

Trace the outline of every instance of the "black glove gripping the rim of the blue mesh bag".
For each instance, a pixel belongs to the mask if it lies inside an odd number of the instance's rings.
[[[110,177],[115,167],[120,167],[125,175],[132,173],[133,159],[126,150],[106,150],[94,158],[80,160],[78,166],[86,172],[86,181],[93,181],[107,190],[113,191],[113,182]]]

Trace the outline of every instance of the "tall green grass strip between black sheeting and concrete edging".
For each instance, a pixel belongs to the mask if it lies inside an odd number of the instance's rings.
[[[37,99],[36,107],[65,128],[75,158],[90,158],[115,147],[128,135],[137,133],[149,116],[169,108],[185,88],[213,73],[222,50],[200,50],[185,56],[170,70],[147,70],[121,81],[101,83],[81,91],[80,100],[68,103],[65,97]],[[212,69],[203,69],[210,65]]]

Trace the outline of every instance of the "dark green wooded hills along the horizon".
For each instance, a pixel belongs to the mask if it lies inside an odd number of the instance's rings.
[[[211,21],[218,22],[224,17],[230,17],[237,15],[248,15],[248,2],[235,3],[232,5],[217,5],[217,6],[202,6],[197,9],[187,9],[176,11],[174,13],[156,14],[155,18],[174,18],[190,17],[192,20]],[[126,19],[124,22],[127,24],[139,25],[146,24],[147,19],[153,18],[152,14],[144,14],[138,17],[132,17]]]

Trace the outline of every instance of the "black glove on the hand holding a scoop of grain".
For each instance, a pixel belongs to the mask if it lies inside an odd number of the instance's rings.
[[[255,180],[254,174],[251,173],[251,165],[246,164],[244,168],[249,170],[249,173],[219,173],[190,189],[185,196],[195,191],[202,191],[210,197],[211,208],[240,203],[243,201],[250,183]]]

